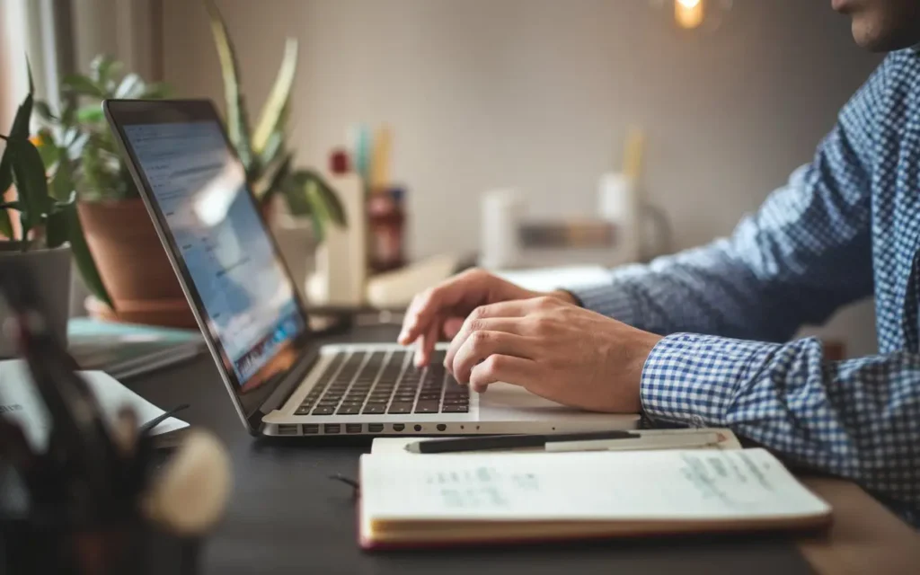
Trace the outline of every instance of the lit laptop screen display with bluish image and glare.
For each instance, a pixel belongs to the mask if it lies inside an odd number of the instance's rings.
[[[216,120],[125,123],[121,130],[243,396],[277,373],[270,362],[305,331],[243,167]]]

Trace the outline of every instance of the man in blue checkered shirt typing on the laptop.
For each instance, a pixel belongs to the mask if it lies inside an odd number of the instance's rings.
[[[898,52],[730,238],[555,293],[467,272],[416,297],[399,341],[425,363],[453,338],[445,364],[479,392],[728,426],[920,525],[920,0],[833,4],[860,46]],[[878,355],[788,341],[873,288]]]

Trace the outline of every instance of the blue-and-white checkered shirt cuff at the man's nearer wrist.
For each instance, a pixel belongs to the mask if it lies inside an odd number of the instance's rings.
[[[652,419],[724,426],[739,389],[757,378],[779,347],[689,333],[661,339],[642,369],[642,408]]]

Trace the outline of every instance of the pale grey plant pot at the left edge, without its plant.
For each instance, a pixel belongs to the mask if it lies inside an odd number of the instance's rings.
[[[16,267],[26,270],[38,290],[52,333],[67,345],[67,319],[70,317],[71,253],[69,246],[22,251],[19,242],[0,241],[0,273]],[[0,321],[10,315],[6,300],[0,298]],[[0,358],[17,355],[16,342],[0,330]]]

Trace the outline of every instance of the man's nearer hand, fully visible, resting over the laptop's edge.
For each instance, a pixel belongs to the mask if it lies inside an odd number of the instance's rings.
[[[477,307],[444,365],[478,392],[506,382],[576,408],[636,413],[642,368],[659,340],[545,296]]]

